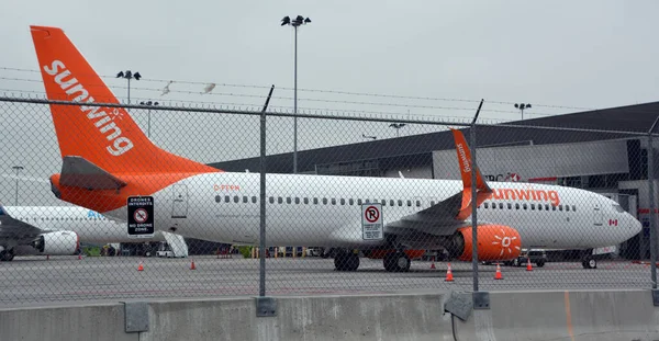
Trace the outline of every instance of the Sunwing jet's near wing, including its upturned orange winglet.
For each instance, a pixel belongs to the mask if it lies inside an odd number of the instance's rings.
[[[462,191],[428,208],[387,224],[386,234],[396,235],[399,240],[401,238],[405,240],[405,237],[411,238],[412,236],[449,236],[458,228],[469,226],[471,221],[467,218],[471,215],[473,202],[471,194],[472,171],[476,171],[476,205],[480,205],[492,195],[492,190],[484,181],[480,170],[471,166],[471,152],[462,132],[451,130],[460,164]]]

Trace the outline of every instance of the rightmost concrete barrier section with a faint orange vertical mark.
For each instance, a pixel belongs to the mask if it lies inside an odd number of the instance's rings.
[[[458,340],[659,340],[650,291],[490,293],[490,309],[455,319]]]

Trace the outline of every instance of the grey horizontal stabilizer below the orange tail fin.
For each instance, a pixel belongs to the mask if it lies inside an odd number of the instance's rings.
[[[82,157],[66,156],[63,159],[59,184],[87,190],[114,190],[125,186],[126,182]]]

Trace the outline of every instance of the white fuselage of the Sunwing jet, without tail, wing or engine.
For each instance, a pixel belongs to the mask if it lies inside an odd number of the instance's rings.
[[[640,230],[632,215],[593,192],[514,182],[490,185],[494,194],[480,205],[479,224],[516,229],[525,248],[605,247]],[[387,225],[460,191],[462,184],[457,180],[268,174],[267,245],[382,245],[383,240],[362,239],[361,203],[381,203]],[[258,173],[193,175],[153,196],[157,229],[228,243],[258,243]],[[125,207],[107,214],[126,219]],[[465,221],[465,226],[469,225]],[[436,237],[439,246],[446,236]]]

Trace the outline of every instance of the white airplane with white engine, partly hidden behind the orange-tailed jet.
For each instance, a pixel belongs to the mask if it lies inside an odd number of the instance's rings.
[[[15,255],[75,254],[80,243],[167,241],[176,257],[187,257],[182,236],[158,231],[153,238],[129,237],[126,221],[79,206],[1,206],[0,261]]]

